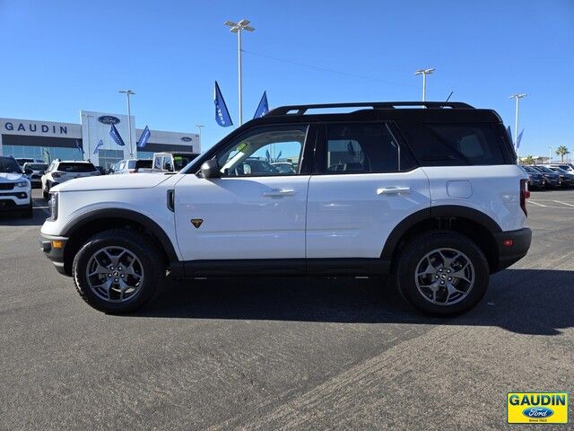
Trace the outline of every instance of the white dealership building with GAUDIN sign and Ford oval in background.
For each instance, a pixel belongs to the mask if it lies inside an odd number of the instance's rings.
[[[126,145],[117,145],[109,136],[112,124]],[[89,110],[80,111],[79,124],[0,119],[0,155],[41,159],[48,163],[54,159],[89,159],[95,165],[107,168],[122,159],[129,159],[130,153],[138,159],[149,159],[153,153],[162,151],[201,153],[200,138],[195,133],[150,129],[147,144],[137,148],[136,141],[142,132],[143,129],[135,128],[133,115],[128,121],[126,115]]]

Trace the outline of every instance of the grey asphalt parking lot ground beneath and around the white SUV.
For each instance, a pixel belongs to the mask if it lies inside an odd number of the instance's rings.
[[[349,278],[170,280],[106,315],[39,251],[34,195],[0,218],[3,429],[494,430],[508,391],[573,396],[572,189],[533,192],[528,256],[449,320]]]

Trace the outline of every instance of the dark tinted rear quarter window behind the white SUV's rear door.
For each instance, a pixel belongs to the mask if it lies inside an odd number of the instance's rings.
[[[424,165],[506,163],[500,137],[488,123],[403,124],[401,128]]]

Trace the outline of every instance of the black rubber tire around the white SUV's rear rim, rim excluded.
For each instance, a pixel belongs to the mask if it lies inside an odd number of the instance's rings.
[[[432,303],[430,299],[424,297],[416,285],[415,278],[419,262],[427,253],[437,249],[460,251],[474,267],[474,284],[460,302],[444,305]],[[407,303],[426,314],[456,316],[472,309],[486,293],[490,277],[488,261],[483,251],[460,233],[443,231],[424,233],[404,244],[397,258],[393,277],[398,291]]]

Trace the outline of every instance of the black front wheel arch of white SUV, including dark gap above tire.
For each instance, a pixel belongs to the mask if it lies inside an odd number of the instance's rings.
[[[96,233],[115,228],[134,229],[148,236],[158,247],[166,265],[178,261],[170,237],[150,217],[125,208],[104,208],[90,211],[65,224],[62,236],[68,238],[64,250],[65,273],[72,274],[72,262],[82,244]]]

